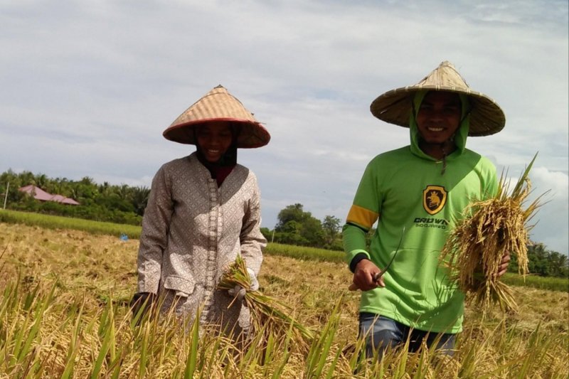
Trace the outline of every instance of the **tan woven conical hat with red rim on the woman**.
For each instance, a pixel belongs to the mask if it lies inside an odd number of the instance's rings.
[[[240,127],[237,147],[250,149],[265,146],[271,136],[252,113],[225,87],[218,85],[180,114],[162,135],[181,144],[196,144],[193,128],[214,121],[228,121]]]

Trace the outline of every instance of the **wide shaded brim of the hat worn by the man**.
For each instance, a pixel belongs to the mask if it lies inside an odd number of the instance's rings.
[[[467,95],[471,105],[468,135],[482,137],[495,134],[504,129],[506,116],[504,111],[486,95],[470,90],[457,90],[456,87],[408,86],[390,90],[371,102],[373,116],[390,124],[409,127],[409,117],[413,110],[413,97],[420,90],[446,91]]]

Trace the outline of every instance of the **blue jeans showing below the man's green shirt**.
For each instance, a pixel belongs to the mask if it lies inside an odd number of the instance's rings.
[[[379,357],[383,356],[387,348],[396,348],[403,345],[409,338],[409,351],[418,351],[421,343],[427,339],[427,346],[437,343],[437,350],[452,356],[456,334],[429,333],[412,329],[410,326],[398,321],[388,319],[378,314],[360,313],[360,336],[366,336],[366,357],[373,357],[373,352],[379,350]]]

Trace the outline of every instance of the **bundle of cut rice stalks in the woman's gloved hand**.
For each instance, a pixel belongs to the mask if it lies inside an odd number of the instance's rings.
[[[314,333],[287,313],[290,311],[288,306],[260,291],[250,290],[251,278],[245,261],[240,255],[223,274],[218,289],[226,291],[234,289],[236,285],[246,291],[243,303],[249,308],[251,314],[251,335],[263,334],[264,338],[255,338],[257,341],[267,343],[268,338],[285,339],[292,336],[297,346],[308,348],[309,343],[314,339]]]

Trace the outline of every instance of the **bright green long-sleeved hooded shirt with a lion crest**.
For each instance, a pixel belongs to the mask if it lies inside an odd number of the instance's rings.
[[[425,93],[415,97],[415,109]],[[467,109],[466,97],[461,100]],[[439,262],[440,251],[464,208],[494,196],[498,186],[494,164],[466,149],[468,127],[463,111],[454,136],[457,149],[443,162],[419,148],[413,114],[410,146],[380,154],[366,167],[343,230],[347,262],[363,252],[378,267],[386,267],[403,240],[383,276],[385,288],[362,292],[361,312],[422,331],[462,331],[464,294],[450,282]],[[366,231],[376,221],[367,251]]]

